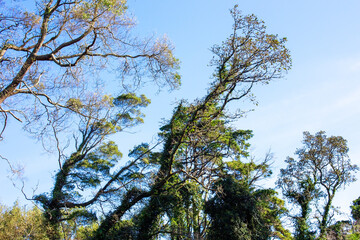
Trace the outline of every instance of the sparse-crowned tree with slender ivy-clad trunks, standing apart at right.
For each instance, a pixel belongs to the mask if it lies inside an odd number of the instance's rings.
[[[358,168],[350,163],[349,149],[341,136],[327,137],[323,131],[315,135],[304,132],[303,144],[295,152],[298,160],[287,158],[288,165],[281,169],[277,184],[284,196],[300,207],[300,215],[295,217],[296,238],[314,238],[309,219],[311,206],[315,205],[320,212],[319,239],[323,239],[331,223],[335,194],[355,181],[353,174]]]

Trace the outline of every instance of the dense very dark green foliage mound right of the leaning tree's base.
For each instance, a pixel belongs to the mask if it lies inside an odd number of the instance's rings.
[[[205,205],[211,218],[207,239],[270,239],[271,229],[261,214],[259,201],[247,186],[226,177],[214,187],[218,191]]]

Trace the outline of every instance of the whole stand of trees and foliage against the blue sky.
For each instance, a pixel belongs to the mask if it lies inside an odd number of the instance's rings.
[[[334,206],[357,180],[346,139],[300,130],[302,145],[268,187],[272,154],[254,159],[253,131],[233,124],[256,86],[292,67],[287,39],[241,6],[210,49],[205,94],[178,100],[154,141],[120,151],[115,136],[146,121],[146,84],[173,91],[182,80],[172,42],[139,36],[128,5],[44,0],[24,10],[0,0],[0,144],[19,122],[57,164],[49,191],[20,189],[33,207],[0,204],[0,239],[360,239],[360,194],[350,219]]]

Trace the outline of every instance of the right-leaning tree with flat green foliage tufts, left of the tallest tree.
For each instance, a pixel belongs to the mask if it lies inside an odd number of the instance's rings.
[[[48,236],[58,239],[60,224],[65,220],[82,218],[91,222],[96,216],[86,207],[112,192],[118,192],[118,185],[126,188],[132,181],[141,179],[140,173],[134,174],[142,165],[142,171],[146,170],[146,164],[139,163],[140,158],[115,173],[111,172],[122,154],[107,137],[142,122],[139,108],[148,103],[145,96],[124,94],[81,109],[87,117],[83,117],[79,124],[80,134],[75,138],[75,151],[68,157],[59,156],[59,171],[51,193],[33,198],[45,210],[45,217],[51,226]],[[146,147],[139,146],[132,154],[141,151],[140,148]],[[89,189],[95,190],[91,197],[85,191]]]

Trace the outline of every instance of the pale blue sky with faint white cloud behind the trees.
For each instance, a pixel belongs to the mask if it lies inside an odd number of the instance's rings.
[[[268,32],[288,39],[293,66],[283,79],[257,86],[258,106],[239,102],[241,109],[254,109],[236,122],[239,129],[253,130],[251,152],[261,159],[274,154],[274,187],[279,169],[287,156],[302,147],[302,133],[323,130],[328,136],[348,140],[349,156],[360,165],[360,1],[358,0],[129,0],[129,11],[136,16],[140,35],[166,35],[181,61],[182,86],[159,93],[144,89],[152,104],[145,110],[145,123],[130,133],[116,136],[124,153],[140,142],[151,141],[163,119],[169,119],[180,99],[202,97],[211,82],[213,69],[210,48],[220,44],[231,32],[229,14],[235,4],[244,14],[255,14],[265,21]],[[11,130],[11,131],[10,131]],[[25,191],[31,195],[51,188],[56,169],[54,158],[30,138],[21,125],[12,122],[0,153],[24,168]],[[7,164],[0,162],[0,203],[26,204],[14,188]],[[360,174],[357,174],[360,179]],[[360,180],[359,180],[360,182]],[[351,202],[360,196],[359,183],[338,193],[334,205],[349,213]]]

